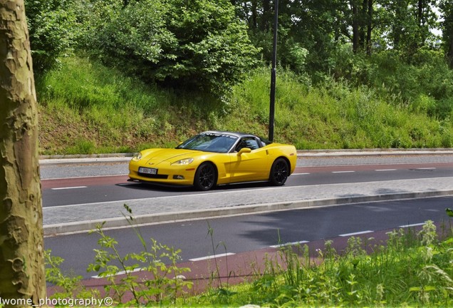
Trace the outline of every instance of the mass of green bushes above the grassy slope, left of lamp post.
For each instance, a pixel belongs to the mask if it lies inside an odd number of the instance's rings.
[[[222,94],[258,61],[227,0],[26,3],[39,68],[78,48],[147,82]]]

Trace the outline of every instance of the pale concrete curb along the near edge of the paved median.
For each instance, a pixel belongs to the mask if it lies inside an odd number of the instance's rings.
[[[388,195],[370,195],[370,196],[353,196],[326,198],[319,200],[296,200],[291,202],[274,202],[264,203],[259,205],[239,205],[236,207],[220,207],[209,210],[192,210],[181,212],[157,213],[150,215],[138,215],[134,217],[134,225],[150,225],[156,223],[168,223],[184,220],[201,220],[213,217],[224,217],[229,215],[246,215],[260,212],[271,212],[281,210],[296,210],[312,207],[328,207],[335,205],[349,205],[362,202],[378,202],[385,200],[401,200],[413,199],[422,197],[440,197],[453,195],[453,190],[439,190],[427,192],[412,192],[412,193],[395,193]],[[80,222],[68,222],[56,225],[44,225],[44,235],[63,235],[67,233],[88,232],[104,224],[103,229],[129,227],[130,223],[125,217],[114,217],[105,220],[85,220]]]

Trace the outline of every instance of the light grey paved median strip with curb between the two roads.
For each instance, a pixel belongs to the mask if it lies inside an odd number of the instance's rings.
[[[217,190],[184,195],[184,197],[153,197],[140,200],[44,207],[43,224],[45,235],[93,230],[101,222],[105,222],[105,227],[127,226],[127,221],[123,216],[123,213],[127,214],[123,207],[124,204],[132,209],[137,223],[149,224],[219,215],[244,215],[271,210],[440,195],[453,195],[453,177],[283,186],[259,190]]]

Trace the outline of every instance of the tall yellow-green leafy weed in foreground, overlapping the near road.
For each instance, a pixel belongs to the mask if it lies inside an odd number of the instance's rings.
[[[132,294],[132,300],[126,304],[174,303],[184,287],[192,287],[192,282],[182,279],[182,274],[188,272],[189,268],[177,266],[181,251],[162,245],[154,239],[148,245],[140,230],[132,224],[132,210],[127,205],[124,207],[129,213],[129,216],[125,215],[125,219],[140,240],[142,252],[121,256],[117,248],[118,242],[105,234],[103,225],[98,225],[93,232],[100,236],[100,249],[95,249],[95,262],[88,266],[88,271],[98,272],[98,277],[108,280],[110,284],[105,285],[105,291],[113,294],[118,303],[125,302],[125,296],[129,293]],[[169,261],[168,264],[164,262],[165,259]],[[128,262],[133,264],[127,265]],[[134,272],[150,273],[151,279],[139,279]],[[123,277],[118,279],[118,274],[123,274]]]

